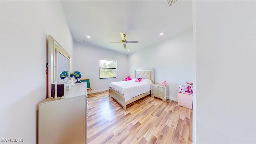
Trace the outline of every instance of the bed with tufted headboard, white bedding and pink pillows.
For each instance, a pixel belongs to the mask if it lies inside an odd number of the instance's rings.
[[[142,78],[140,82],[134,82]],[[150,94],[151,84],[154,83],[154,68],[135,69],[134,79],[121,82],[111,82],[108,87],[109,96],[114,98],[124,110],[126,105]]]

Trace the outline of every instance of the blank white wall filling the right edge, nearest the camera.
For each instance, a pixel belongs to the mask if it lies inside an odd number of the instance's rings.
[[[255,144],[256,1],[195,6],[196,143]]]

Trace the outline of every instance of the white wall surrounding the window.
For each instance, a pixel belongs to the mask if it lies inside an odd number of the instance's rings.
[[[117,60],[116,78],[100,79],[100,57]],[[74,71],[82,73],[82,78],[90,78],[92,93],[108,90],[110,82],[122,81],[128,76],[128,57],[114,51],[74,42]]]

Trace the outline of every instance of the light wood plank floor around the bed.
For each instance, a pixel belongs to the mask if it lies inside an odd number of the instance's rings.
[[[88,97],[87,143],[191,144],[192,110],[146,96],[125,111],[108,91],[95,93]]]

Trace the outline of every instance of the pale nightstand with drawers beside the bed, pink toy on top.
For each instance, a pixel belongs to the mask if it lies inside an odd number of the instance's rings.
[[[162,86],[161,84],[151,85],[151,97],[161,98],[164,102],[169,99],[169,86]]]

